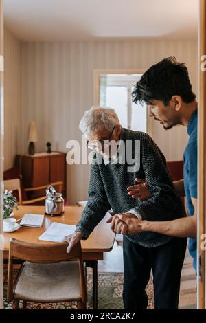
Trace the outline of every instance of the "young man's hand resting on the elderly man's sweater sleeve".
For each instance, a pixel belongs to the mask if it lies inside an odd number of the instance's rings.
[[[144,179],[135,178],[135,181],[138,182],[137,185],[129,186],[127,188],[128,194],[133,199],[139,199],[139,201],[145,201],[146,199],[150,199],[151,193],[148,188],[148,183]]]

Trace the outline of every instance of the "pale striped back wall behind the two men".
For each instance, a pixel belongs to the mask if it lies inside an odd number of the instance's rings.
[[[23,43],[23,153],[27,152],[27,127],[38,126],[37,151],[67,151],[69,139],[80,139],[78,123],[93,104],[93,69],[142,69],[167,56],[187,64],[197,91],[196,41],[84,41]],[[182,159],[187,142],[183,127],[164,131],[152,122],[152,137],[168,160]],[[70,203],[87,199],[88,166],[67,167]]]

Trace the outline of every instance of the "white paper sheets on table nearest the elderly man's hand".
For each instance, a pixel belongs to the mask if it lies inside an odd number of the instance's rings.
[[[65,236],[69,236],[76,229],[76,225],[53,222],[50,227],[38,238],[44,241],[64,241]]]

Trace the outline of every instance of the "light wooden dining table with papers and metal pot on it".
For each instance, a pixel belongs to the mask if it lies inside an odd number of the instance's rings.
[[[3,233],[3,256],[8,259],[10,239],[15,238],[27,243],[38,243],[41,245],[55,242],[40,241],[38,239],[52,222],[76,225],[81,218],[81,206],[67,206],[61,216],[45,215],[42,227],[20,227],[19,230],[10,233]],[[24,214],[45,214],[44,206],[19,206],[19,210],[14,212],[16,220],[21,219]],[[98,260],[104,259],[104,252],[110,252],[113,249],[115,234],[111,231],[110,226],[106,223],[110,214],[106,214],[104,219],[95,227],[87,240],[82,240],[82,257],[87,267],[93,271],[93,309],[98,309]]]

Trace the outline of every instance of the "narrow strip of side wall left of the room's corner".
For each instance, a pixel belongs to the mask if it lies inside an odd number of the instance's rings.
[[[21,152],[21,41],[4,28],[4,170]]]

